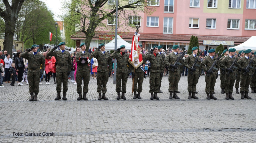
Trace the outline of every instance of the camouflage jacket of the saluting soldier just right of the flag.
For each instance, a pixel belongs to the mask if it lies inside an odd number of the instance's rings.
[[[151,67],[150,67],[150,72],[152,73],[161,73],[164,72],[164,59],[163,57],[157,53],[155,56],[154,53],[146,54],[145,59],[150,61]]]

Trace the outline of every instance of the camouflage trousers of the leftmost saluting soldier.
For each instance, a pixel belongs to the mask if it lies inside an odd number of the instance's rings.
[[[29,93],[31,92],[39,93],[40,74],[41,74],[40,70],[28,70]]]

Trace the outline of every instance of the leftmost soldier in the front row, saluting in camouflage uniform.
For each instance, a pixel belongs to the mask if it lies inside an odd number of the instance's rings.
[[[30,51],[32,51],[32,53],[29,53]],[[28,84],[30,93],[29,101],[37,101],[37,95],[39,93],[39,81],[41,77],[40,67],[45,66],[45,59],[43,55],[37,53],[37,45],[32,45],[31,49],[21,53],[20,57],[28,60]]]

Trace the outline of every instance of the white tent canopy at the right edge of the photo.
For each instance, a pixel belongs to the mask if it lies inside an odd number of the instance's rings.
[[[252,36],[250,39],[245,41],[244,43],[234,46],[234,47],[229,47],[229,48],[235,48],[236,51],[239,50],[247,50],[251,49],[252,51],[256,51],[256,36]]]

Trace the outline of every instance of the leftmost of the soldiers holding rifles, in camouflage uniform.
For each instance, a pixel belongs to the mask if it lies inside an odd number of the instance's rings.
[[[165,65],[170,65],[169,66],[169,89],[168,91],[170,92],[170,97],[169,99],[175,98],[175,99],[180,99],[180,97],[177,96],[177,91],[178,91],[178,86],[179,86],[179,81],[180,81],[180,66],[174,65],[174,63],[177,61],[178,57],[180,56],[178,54],[179,52],[179,46],[174,45],[172,47],[173,52],[168,54],[168,56],[164,59],[164,64]],[[180,64],[183,63],[182,58],[180,58]],[[174,69],[172,71],[172,68]],[[182,68],[183,69],[183,68]],[[173,93],[173,96],[172,96]]]

